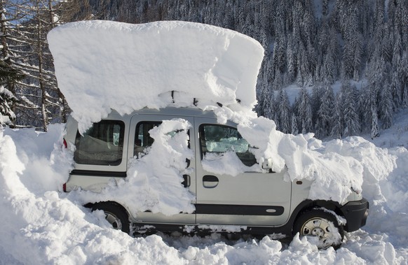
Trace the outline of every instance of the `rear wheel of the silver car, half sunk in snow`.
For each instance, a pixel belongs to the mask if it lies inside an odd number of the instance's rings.
[[[130,233],[129,215],[120,205],[111,202],[100,202],[93,205],[92,210],[103,210],[106,220],[113,229]]]

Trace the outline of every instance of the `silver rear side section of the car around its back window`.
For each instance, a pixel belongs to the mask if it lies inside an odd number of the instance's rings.
[[[69,117],[65,139],[75,146],[75,169],[69,173],[66,191],[81,187],[100,192],[112,178],[126,177],[129,122],[129,116],[111,113],[109,119],[94,123],[81,135],[76,121]]]

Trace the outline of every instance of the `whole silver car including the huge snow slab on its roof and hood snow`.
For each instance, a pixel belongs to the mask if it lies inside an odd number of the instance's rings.
[[[327,248],[365,224],[362,163],[254,112],[265,50],[253,38],[194,22],[82,21],[48,44],[72,109],[64,190],[116,229],[299,232]]]

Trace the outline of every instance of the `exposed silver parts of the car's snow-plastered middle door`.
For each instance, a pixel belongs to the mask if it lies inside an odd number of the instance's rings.
[[[128,157],[134,157],[137,155],[143,155],[145,148],[148,148],[151,143],[153,143],[153,138],[149,136],[149,129],[158,126],[163,120],[172,120],[175,116],[172,115],[149,115],[149,114],[138,114],[132,117],[130,122],[130,132],[129,132],[129,148]],[[192,117],[179,117],[184,120],[188,120],[193,124]],[[193,134],[193,128],[190,129],[189,134]],[[191,141],[193,141],[192,139]],[[190,143],[190,146],[193,143]],[[188,163],[189,168],[194,169],[196,162],[192,159]],[[184,175],[184,182],[180,185],[184,185],[191,194],[196,194],[196,177],[195,171],[191,171],[189,176]],[[191,176],[193,175],[193,176]],[[195,201],[192,201],[194,203]],[[175,223],[175,224],[193,224],[196,222],[196,215],[194,213],[179,213],[176,215],[163,215],[162,213],[151,213],[150,211],[139,212],[132,214],[137,222],[145,223]]]

